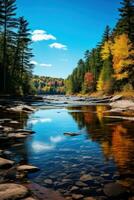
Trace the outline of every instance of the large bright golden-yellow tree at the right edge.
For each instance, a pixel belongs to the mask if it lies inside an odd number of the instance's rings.
[[[122,34],[115,38],[112,46],[112,54],[114,76],[117,80],[128,78],[127,69],[130,65],[134,64],[134,60],[132,59],[134,50],[131,49],[132,44],[126,34]]]

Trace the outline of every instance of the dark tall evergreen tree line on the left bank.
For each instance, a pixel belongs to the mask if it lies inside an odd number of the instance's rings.
[[[0,0],[0,93],[32,93],[29,24],[16,16],[16,0]]]

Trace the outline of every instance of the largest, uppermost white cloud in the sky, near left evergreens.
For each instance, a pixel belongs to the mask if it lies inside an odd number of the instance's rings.
[[[32,32],[32,41],[37,42],[42,40],[56,40],[56,37],[44,30],[34,30]]]

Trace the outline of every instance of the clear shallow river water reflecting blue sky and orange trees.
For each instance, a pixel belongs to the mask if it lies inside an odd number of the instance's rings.
[[[105,116],[107,106],[40,108],[29,116],[26,128],[32,135],[16,154],[25,162],[38,166],[33,181],[59,190],[64,196],[78,186],[84,197],[104,196],[107,183],[119,181],[133,190],[134,124]],[[112,114],[113,115],[113,114]],[[80,133],[65,136],[66,132]],[[91,175],[79,186],[82,175]],[[90,188],[88,192],[83,188]]]

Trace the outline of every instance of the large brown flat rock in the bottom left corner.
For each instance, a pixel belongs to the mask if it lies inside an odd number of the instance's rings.
[[[14,183],[0,184],[0,200],[16,200],[26,197],[27,188]]]

